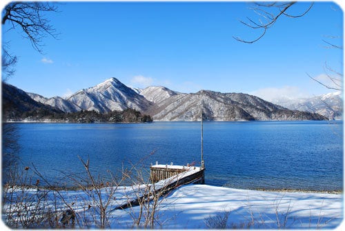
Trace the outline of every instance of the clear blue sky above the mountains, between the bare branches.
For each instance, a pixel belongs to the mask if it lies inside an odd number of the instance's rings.
[[[290,14],[303,12],[298,2]],[[64,96],[115,77],[128,86],[166,86],[179,92],[317,95],[332,92],[312,81],[325,62],[343,73],[343,12],[316,2],[300,18],[282,17],[259,34],[239,20],[257,19],[244,2],[60,2],[46,14],[59,39],[43,39],[45,54],[14,30],[2,40],[19,57],[8,83],[44,97]],[[328,39],[329,36],[340,39]],[[274,93],[275,92],[275,93]]]

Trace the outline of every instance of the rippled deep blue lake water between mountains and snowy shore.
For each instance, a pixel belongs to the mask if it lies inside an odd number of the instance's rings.
[[[199,122],[19,123],[21,166],[47,179],[124,165],[201,159]],[[206,183],[243,189],[342,190],[342,121],[204,122]],[[150,154],[154,152],[153,154]]]

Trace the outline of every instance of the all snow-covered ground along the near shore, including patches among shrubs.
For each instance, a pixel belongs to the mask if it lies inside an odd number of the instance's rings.
[[[103,202],[110,194],[112,198],[122,200],[120,203],[126,199],[124,188],[118,188],[115,194],[110,192],[109,188],[102,190]],[[30,190],[29,194],[44,193]],[[54,206],[63,207],[66,203],[70,204],[79,219],[89,217],[90,221],[97,217],[97,212],[94,210],[97,208],[96,202],[92,201],[97,197],[92,195],[95,194],[86,194],[80,190],[61,192],[65,201],[56,195],[49,198],[59,200]],[[140,207],[113,210],[119,202],[112,199],[110,201],[107,209],[108,228],[135,228],[132,218],[139,214]],[[8,207],[5,205],[3,208]],[[265,229],[339,228],[343,219],[343,195],[237,190],[190,184],[181,186],[161,199],[155,215],[157,216],[155,228],[162,229],[204,229],[224,228],[224,226]],[[3,214],[3,221],[6,221],[6,214]]]

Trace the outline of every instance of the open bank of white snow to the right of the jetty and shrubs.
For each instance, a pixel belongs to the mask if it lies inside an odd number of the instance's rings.
[[[186,185],[161,203],[161,219],[174,217],[164,228],[208,228],[207,221],[228,211],[227,228],[335,228],[342,223],[342,201],[342,194]]]

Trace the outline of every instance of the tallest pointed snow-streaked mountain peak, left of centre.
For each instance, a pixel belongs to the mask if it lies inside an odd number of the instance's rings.
[[[132,108],[145,111],[150,102],[145,97],[128,88],[118,79],[107,79],[92,88],[79,90],[66,98],[83,110],[110,112]]]

